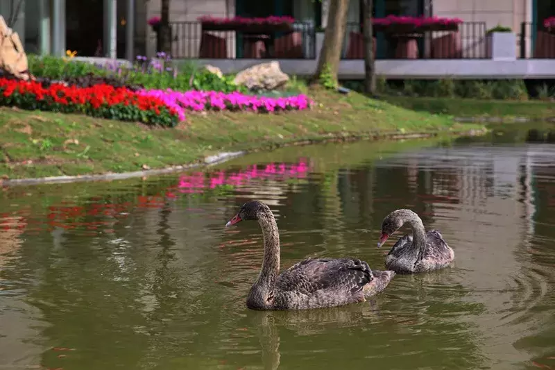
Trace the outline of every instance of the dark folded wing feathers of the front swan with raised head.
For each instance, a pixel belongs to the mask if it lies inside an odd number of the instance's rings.
[[[315,258],[294,264],[278,276],[276,287],[283,292],[313,294],[320,289],[340,288],[360,292],[373,279],[368,264],[357,258]]]

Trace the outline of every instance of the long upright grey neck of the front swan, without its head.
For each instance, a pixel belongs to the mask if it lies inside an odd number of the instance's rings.
[[[280,273],[280,233],[278,224],[275,222],[271,212],[265,212],[258,218],[258,224],[262,228],[264,236],[264,260],[262,269],[255,285],[263,285],[273,289],[275,279]]]

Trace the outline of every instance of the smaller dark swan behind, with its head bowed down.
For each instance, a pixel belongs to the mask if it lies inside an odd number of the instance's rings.
[[[404,223],[412,228],[412,235],[404,235],[386,256],[387,269],[399,274],[415,274],[443,269],[454,259],[454,251],[438,230],[426,233],[422,220],[411,210],[395,210],[382,221],[378,248]]]

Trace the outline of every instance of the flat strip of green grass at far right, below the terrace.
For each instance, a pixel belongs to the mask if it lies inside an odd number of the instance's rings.
[[[552,101],[510,101],[450,98],[413,98],[407,96],[383,96],[384,101],[403,108],[452,115],[456,117],[527,117],[543,120],[555,117]]]

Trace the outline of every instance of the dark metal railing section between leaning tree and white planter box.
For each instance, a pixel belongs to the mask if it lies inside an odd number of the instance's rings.
[[[484,59],[488,58],[486,22],[465,22],[459,31],[426,31],[415,35],[375,35],[376,59]],[[358,23],[348,23],[343,59],[364,58],[364,39]]]

